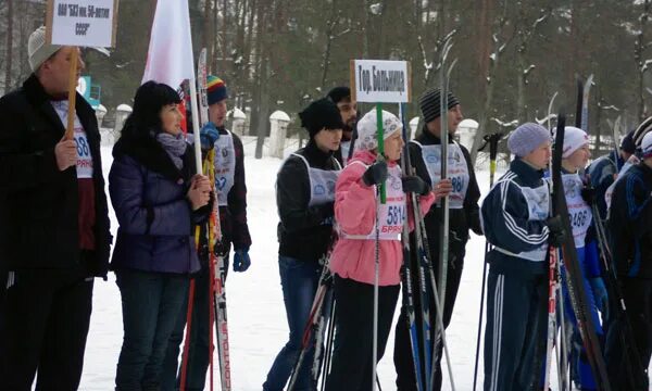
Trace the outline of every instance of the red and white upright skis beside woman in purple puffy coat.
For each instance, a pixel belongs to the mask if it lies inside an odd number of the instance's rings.
[[[206,49],[202,49],[199,55],[198,68],[197,68],[198,86],[199,86],[199,117],[201,128],[209,122],[209,101],[206,94]],[[212,189],[217,191],[215,187],[215,148],[212,148],[204,160],[203,167],[204,175],[208,175],[211,180]],[[220,361],[220,380],[222,391],[231,390],[230,379],[230,354],[229,354],[229,341],[228,341],[228,323],[226,313],[226,263],[222,255],[215,254],[215,247],[222,241],[222,227],[220,224],[220,203],[217,202],[217,194],[215,194],[213,209],[209,217],[208,227],[208,240],[209,240],[209,290],[213,300],[211,301],[209,308],[209,318],[211,327],[209,328],[209,356],[210,356],[210,384],[213,390],[213,350],[214,350],[214,338],[213,338],[213,325],[215,325],[215,333],[217,336],[217,353]],[[198,239],[198,236],[196,236]],[[188,298],[188,313],[187,313],[187,327],[186,338],[184,343],[184,353],[181,356],[181,374],[180,374],[180,390],[186,389],[186,377],[188,369],[188,353],[190,345],[190,330],[191,330],[191,314],[195,298],[195,280],[190,282],[190,292]]]

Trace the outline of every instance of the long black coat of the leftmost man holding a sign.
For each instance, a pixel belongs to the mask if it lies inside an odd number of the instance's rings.
[[[13,270],[75,268],[80,262],[77,174],[74,166],[60,172],[57,165],[54,146],[65,128],[51,100],[34,75],[0,99],[0,260]],[[105,276],[112,238],[100,134],[92,108],[78,93],[75,110],[93,164],[96,250],[83,266]]]

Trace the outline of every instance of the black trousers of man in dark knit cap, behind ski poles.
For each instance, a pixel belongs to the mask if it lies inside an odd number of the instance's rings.
[[[435,254],[437,249],[431,251],[431,260],[435,260],[435,278],[437,280],[437,287],[439,288],[439,274],[437,273],[437,260],[439,254]],[[460,280],[462,279],[462,269],[464,268],[464,248],[457,249],[456,253],[451,253],[450,262],[448,264],[448,277],[446,283],[446,302],[443,306],[443,326],[448,328],[451,323],[451,317],[453,315],[453,306],[455,305],[455,299],[457,298],[457,290],[460,289]],[[428,311],[430,315],[430,329],[435,330],[437,327],[437,312],[435,307],[435,301],[432,300],[431,289],[430,289],[430,277],[428,275],[427,269],[426,273],[426,285],[428,287]],[[415,306],[418,308],[421,305],[419,298],[419,288],[418,288],[418,272],[416,262],[412,260],[412,282],[413,288],[412,291],[415,295]],[[417,325],[422,324],[422,313],[415,312],[415,323]],[[418,336],[421,339],[421,335]],[[423,343],[423,342],[422,342]],[[423,350],[419,349],[419,354]],[[431,349],[431,348],[430,348]],[[432,390],[441,390],[441,354],[442,354],[442,344],[439,343],[437,345],[437,363],[435,366],[435,382],[432,384]],[[435,356],[435,354],[432,355]],[[394,332],[394,353],[393,353],[394,368],[397,370],[397,389],[400,391],[408,390],[416,390],[416,376],[414,373],[414,358],[412,355],[412,343],[410,340],[410,329],[408,325],[408,313],[405,312],[405,307],[401,307],[401,315],[397,321],[396,332]],[[426,374],[430,374],[430,368],[426,368]]]

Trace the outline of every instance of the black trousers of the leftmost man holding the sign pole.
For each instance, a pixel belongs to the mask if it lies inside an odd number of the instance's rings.
[[[13,280],[13,283],[12,281]],[[76,390],[92,308],[92,278],[75,270],[20,270],[0,305],[1,389]],[[8,279],[0,281],[5,289]]]

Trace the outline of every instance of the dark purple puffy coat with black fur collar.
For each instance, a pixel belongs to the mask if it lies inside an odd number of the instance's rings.
[[[195,224],[209,207],[192,213],[186,199],[195,175],[188,147],[179,171],[153,138],[121,138],[113,148],[109,193],[120,227],[112,269],[189,274],[198,272]]]

